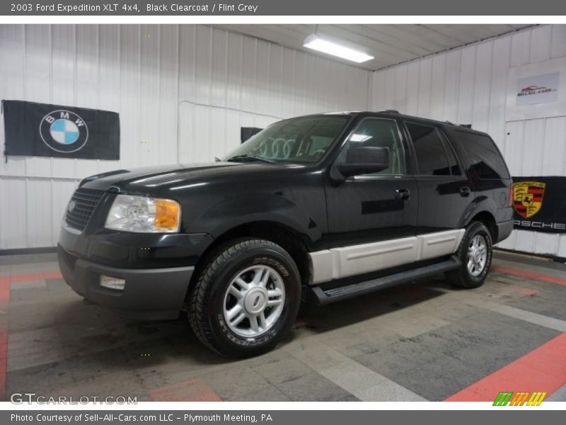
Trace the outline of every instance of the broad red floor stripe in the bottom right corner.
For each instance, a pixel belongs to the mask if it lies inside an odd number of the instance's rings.
[[[492,402],[499,391],[541,391],[551,395],[566,385],[565,353],[566,332],[444,401]]]

